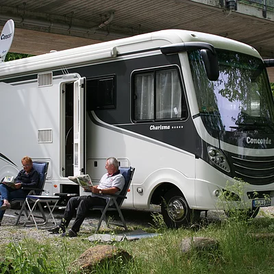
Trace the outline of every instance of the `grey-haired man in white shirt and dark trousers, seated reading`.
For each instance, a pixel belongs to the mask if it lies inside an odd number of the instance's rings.
[[[49,232],[60,233],[62,236],[77,236],[77,232],[79,232],[89,209],[93,206],[104,206],[108,202],[109,198],[103,196],[103,194],[119,194],[121,192],[125,184],[125,178],[120,174],[117,159],[114,157],[108,158],[105,162],[105,169],[108,173],[105,173],[103,177],[101,177],[99,185],[87,187],[91,195],[72,197],[69,199],[60,225],[49,229]],[[75,212],[75,221],[71,229],[66,232],[66,228],[69,226],[71,219],[73,219]]]

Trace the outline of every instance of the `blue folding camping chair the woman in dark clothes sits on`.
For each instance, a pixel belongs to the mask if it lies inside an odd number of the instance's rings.
[[[49,168],[49,162],[32,162],[33,167],[36,171],[39,173],[39,181],[37,188],[27,188],[24,187],[23,189],[29,190],[28,195],[41,195],[44,191],[43,188],[45,186],[46,177],[47,177],[47,170]],[[26,207],[26,200],[25,199],[13,199],[12,202],[15,203],[23,203],[23,206],[21,207],[21,210],[18,214],[17,220],[15,225],[18,225],[19,220],[21,219],[21,216],[23,212],[25,212],[25,216],[28,216],[27,207]]]

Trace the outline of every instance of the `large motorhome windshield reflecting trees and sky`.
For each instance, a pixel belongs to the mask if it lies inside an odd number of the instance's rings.
[[[273,96],[262,60],[234,51],[217,53],[217,81],[206,76],[199,51],[188,53],[199,112],[206,128],[273,134]]]

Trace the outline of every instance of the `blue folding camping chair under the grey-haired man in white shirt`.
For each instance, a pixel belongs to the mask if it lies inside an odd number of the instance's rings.
[[[97,225],[97,228],[95,229],[95,233],[97,233],[101,227],[102,221],[105,221],[107,227],[109,227],[110,224],[117,225],[125,228],[125,231],[127,231],[127,225],[125,223],[125,219],[123,217],[123,214],[121,212],[121,206],[123,204],[124,199],[127,199],[127,191],[129,189],[130,183],[132,182],[132,177],[134,175],[135,168],[132,167],[119,167],[120,173],[125,177],[125,186],[123,187],[123,190],[120,192],[119,195],[104,195],[110,197],[108,203],[106,206],[95,206],[93,208],[90,208],[90,210],[100,210],[101,211],[101,218],[99,220],[99,223]],[[110,221],[105,216],[106,212],[108,211],[118,211],[120,219],[123,223],[123,225],[118,223],[110,223]]]

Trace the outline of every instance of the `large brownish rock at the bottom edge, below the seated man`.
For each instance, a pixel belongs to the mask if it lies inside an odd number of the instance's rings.
[[[75,260],[70,269],[79,268],[85,273],[89,273],[94,270],[97,264],[104,264],[105,262],[114,261],[117,258],[127,262],[132,256],[123,249],[118,249],[112,245],[97,245],[96,247],[90,247],[82,255]]]

